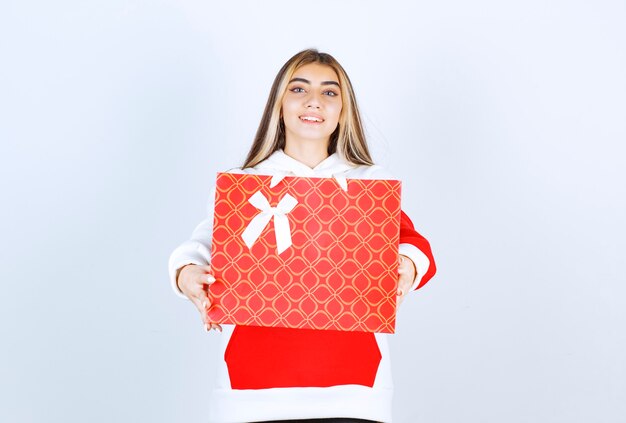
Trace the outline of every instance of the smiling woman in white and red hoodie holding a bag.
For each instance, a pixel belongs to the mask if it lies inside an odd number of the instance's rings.
[[[304,50],[285,63],[237,172],[392,179],[373,164],[350,80],[329,54]],[[212,208],[209,207],[209,210]],[[170,257],[175,291],[206,321],[212,216]],[[428,242],[402,213],[398,302],[435,273]],[[383,334],[224,326],[224,360],[210,403],[215,422],[391,420],[391,369]],[[296,420],[294,420],[296,419]],[[324,419],[324,420],[319,420]]]

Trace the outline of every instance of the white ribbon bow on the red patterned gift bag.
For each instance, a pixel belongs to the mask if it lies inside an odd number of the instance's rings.
[[[257,214],[254,219],[250,221],[241,234],[243,242],[246,243],[248,248],[252,248],[252,245],[259,236],[261,236],[261,232],[263,232],[263,229],[265,229],[270,222],[272,216],[274,217],[276,250],[278,254],[289,248],[291,246],[291,229],[289,228],[289,219],[287,219],[286,215],[298,204],[298,200],[289,194],[285,194],[276,207],[271,207],[269,201],[261,191],[257,191],[248,201],[254,207],[261,210],[261,213]]]

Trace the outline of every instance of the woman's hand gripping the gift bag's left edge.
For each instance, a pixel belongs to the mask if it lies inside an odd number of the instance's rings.
[[[200,312],[202,323],[207,332],[211,329],[222,331],[222,327],[208,321],[207,309],[209,302],[209,285],[215,282],[211,274],[211,266],[188,264],[178,272],[176,283],[183,294],[196,306]]]

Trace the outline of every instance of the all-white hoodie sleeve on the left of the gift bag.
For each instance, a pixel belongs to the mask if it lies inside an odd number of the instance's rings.
[[[207,265],[211,262],[211,238],[213,236],[213,204],[215,189],[211,190],[207,205],[207,217],[196,226],[191,238],[180,244],[170,255],[168,268],[172,289],[181,298],[187,298],[178,288],[178,271],[187,264]]]

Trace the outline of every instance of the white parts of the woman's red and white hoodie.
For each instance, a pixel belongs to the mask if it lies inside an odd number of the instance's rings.
[[[254,168],[235,169],[233,173],[304,177],[333,177],[343,184],[345,179],[395,179],[380,166],[355,166],[338,154],[333,154],[314,168],[289,157],[282,150]],[[181,244],[170,256],[169,274],[177,295],[186,298],[176,285],[178,269],[186,264],[210,263],[213,227],[213,198],[209,216],[193,231],[191,239]],[[409,257],[418,270],[415,289],[426,274],[430,260],[412,244],[400,244],[399,253]],[[222,325],[221,362],[218,380],[209,407],[211,422],[253,422],[285,419],[314,419],[352,417],[375,421],[391,421],[393,385],[389,351],[385,334],[375,334],[381,360],[373,386],[342,384],[327,387],[281,387],[269,389],[232,389],[224,352],[234,330],[233,325]],[[296,329],[293,329],[294,331]]]

